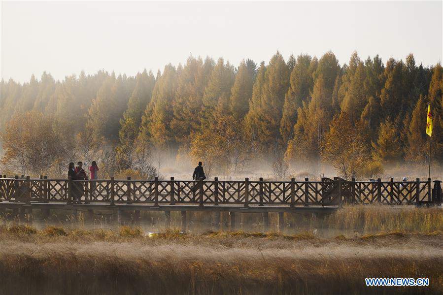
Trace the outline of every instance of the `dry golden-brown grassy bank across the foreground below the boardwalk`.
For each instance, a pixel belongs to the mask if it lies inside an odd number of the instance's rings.
[[[1,294],[442,293],[443,233],[0,228]],[[366,287],[366,277],[430,278]]]

